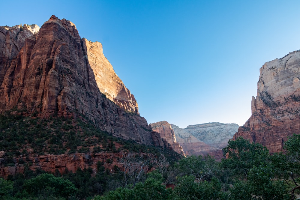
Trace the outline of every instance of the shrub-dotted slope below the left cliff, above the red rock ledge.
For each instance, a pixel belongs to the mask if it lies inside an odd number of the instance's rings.
[[[121,147],[116,149],[116,144]],[[5,151],[6,166],[14,166],[15,157],[29,154],[144,152],[164,154],[173,162],[181,157],[167,148],[155,148],[114,137],[80,118],[40,119],[0,115],[0,147],[1,151]]]

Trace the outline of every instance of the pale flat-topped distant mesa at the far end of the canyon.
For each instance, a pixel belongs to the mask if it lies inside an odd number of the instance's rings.
[[[171,127],[187,155],[210,154],[217,159],[223,157],[222,148],[226,147],[228,140],[238,130],[237,124],[222,123],[189,125],[184,129],[174,124]]]

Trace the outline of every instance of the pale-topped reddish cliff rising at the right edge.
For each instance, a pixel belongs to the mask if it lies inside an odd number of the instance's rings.
[[[266,62],[260,69],[252,115],[233,139],[242,136],[261,143],[271,153],[282,151],[283,142],[300,129],[300,52]]]

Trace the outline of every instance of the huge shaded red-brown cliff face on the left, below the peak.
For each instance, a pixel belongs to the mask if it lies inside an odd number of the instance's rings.
[[[72,22],[51,16],[37,34],[35,31],[23,34],[23,47],[16,45],[14,50],[8,50],[10,46],[7,44],[13,43],[15,37],[10,37],[7,32],[4,34],[5,45],[0,47],[3,58],[0,65],[0,113],[18,109],[23,114],[42,118],[81,115],[113,136],[164,145],[159,134],[151,132],[145,118],[137,114],[137,107],[129,109],[135,114],[125,112],[124,106],[117,106],[100,92],[95,74],[101,69],[94,66],[93,71],[91,68],[88,59],[91,57],[88,54],[92,54],[88,49],[91,44],[80,39]],[[3,34],[0,36],[0,42],[4,44]],[[7,51],[11,53],[7,54]]]

